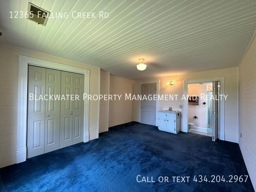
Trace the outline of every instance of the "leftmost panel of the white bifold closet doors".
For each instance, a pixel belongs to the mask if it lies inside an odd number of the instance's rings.
[[[45,78],[46,68],[28,66],[28,158],[45,152]]]

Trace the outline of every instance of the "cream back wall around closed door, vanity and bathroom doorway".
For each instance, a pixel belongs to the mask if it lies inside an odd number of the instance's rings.
[[[225,94],[228,94],[227,100],[225,101],[225,140],[231,142],[238,142],[237,140],[237,68],[226,68],[221,70],[210,70],[203,72],[194,72],[189,74],[177,75],[177,76],[165,76],[160,78],[149,78],[149,79],[137,79],[135,81],[134,93],[141,93],[141,81],[152,81],[159,79],[160,94],[178,94],[177,101],[160,101],[158,110],[168,109],[173,107],[174,109],[180,110],[183,116],[183,109],[179,106],[183,105],[182,95],[184,94],[184,80],[192,79],[207,79],[225,77]],[[167,85],[168,81],[174,81],[175,84],[170,86]],[[140,101],[134,101],[134,121],[140,122]],[[183,117],[182,117],[183,118]],[[181,120],[181,127],[183,126],[183,119]]]

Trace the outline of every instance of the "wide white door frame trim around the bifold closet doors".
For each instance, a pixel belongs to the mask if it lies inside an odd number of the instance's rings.
[[[28,99],[28,65],[63,70],[84,75],[84,93],[89,94],[90,70],[69,66],[42,59],[19,55],[18,78],[18,116],[17,116],[17,163],[26,161],[27,157],[27,99]],[[83,142],[89,141],[89,101],[83,102]]]

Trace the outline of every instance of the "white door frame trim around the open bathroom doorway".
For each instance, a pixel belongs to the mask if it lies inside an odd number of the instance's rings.
[[[219,78],[208,78],[208,79],[193,79],[193,80],[184,80],[184,95],[186,96],[188,94],[188,85],[193,83],[210,83],[213,81],[219,81],[220,89],[219,94],[224,95],[225,94],[225,78],[219,77]],[[183,132],[188,132],[188,121],[187,121],[187,111],[188,111],[188,102],[187,100],[184,100],[184,116],[183,116]],[[219,139],[225,140],[225,100],[219,101]]]

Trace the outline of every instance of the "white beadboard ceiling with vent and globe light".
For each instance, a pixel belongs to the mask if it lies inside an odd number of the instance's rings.
[[[98,66],[130,79],[235,67],[256,29],[256,0],[30,0],[51,14],[41,26],[0,0],[0,42]],[[72,11],[96,18],[72,18]],[[99,18],[99,11],[109,13]],[[144,58],[145,71],[136,68]]]

